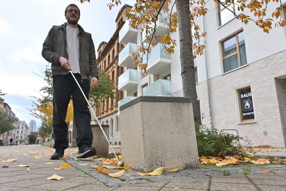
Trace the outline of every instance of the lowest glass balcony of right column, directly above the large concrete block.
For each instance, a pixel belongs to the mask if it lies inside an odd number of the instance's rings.
[[[171,80],[159,79],[143,88],[143,95],[172,96]]]

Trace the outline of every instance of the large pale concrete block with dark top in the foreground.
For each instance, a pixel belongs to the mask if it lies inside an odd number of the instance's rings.
[[[120,107],[121,154],[129,168],[199,168],[192,103],[140,96]]]

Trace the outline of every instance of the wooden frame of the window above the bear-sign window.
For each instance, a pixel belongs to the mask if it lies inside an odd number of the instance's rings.
[[[231,36],[227,37],[226,39],[224,39],[223,41],[220,42],[220,45],[221,45],[221,55],[222,55],[222,64],[223,64],[223,73],[227,73],[227,72],[229,72],[229,71],[232,71],[232,70],[235,70],[235,69],[237,69],[237,68],[239,68],[239,67],[242,67],[242,66],[241,66],[241,60],[240,60],[240,52],[239,52],[239,42],[238,42],[238,33],[241,33],[241,32],[244,32],[244,31],[243,31],[243,30],[238,31],[238,32],[235,33],[234,35],[231,35]],[[227,56],[224,56],[224,55],[223,55],[223,52],[224,52],[223,42],[226,42],[227,40],[231,39],[231,38],[234,37],[234,36],[235,36],[236,51],[235,51],[235,52],[232,52],[231,54],[229,54],[229,55],[227,55]],[[243,36],[244,36],[244,33],[243,33]],[[245,44],[245,39],[244,39],[244,44]],[[238,67],[237,67],[237,68],[234,68],[234,69],[232,69],[232,70],[229,70],[229,71],[224,71],[224,63],[223,63],[223,61],[226,60],[227,58],[230,58],[230,57],[236,55],[236,54],[237,54],[237,59],[238,59]],[[246,62],[245,65],[247,65],[247,62]],[[243,65],[243,66],[244,66],[244,65]]]

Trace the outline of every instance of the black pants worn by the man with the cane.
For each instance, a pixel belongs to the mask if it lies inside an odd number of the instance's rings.
[[[81,80],[80,74],[74,74],[81,89],[88,99],[90,83],[89,80]],[[81,90],[71,74],[53,76],[53,131],[54,148],[68,148],[66,124],[66,113],[72,95],[73,114],[77,130],[76,145],[81,146],[85,143],[92,144],[93,135],[91,130],[91,114]]]

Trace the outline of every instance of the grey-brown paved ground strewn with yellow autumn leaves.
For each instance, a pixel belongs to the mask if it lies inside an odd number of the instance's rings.
[[[116,149],[116,147],[115,147]],[[76,152],[76,148],[68,148],[66,153]],[[261,149],[257,156],[270,155]],[[282,152],[274,152],[280,150]],[[102,165],[100,161],[73,159],[76,154],[70,154],[63,160],[50,160],[48,154],[54,149],[41,145],[1,146],[0,160],[14,159],[15,162],[0,162],[8,168],[0,169],[1,190],[286,190],[286,165],[268,165],[252,167],[211,168],[163,171],[158,176],[144,176],[144,173],[133,169],[125,171],[118,178],[98,173],[90,165]],[[34,155],[32,155],[34,154]],[[286,149],[272,149],[271,155],[286,158]],[[35,156],[43,156],[35,158]],[[42,164],[53,162],[52,164]],[[55,170],[61,164],[68,163],[71,168]],[[19,167],[29,165],[30,167]],[[87,164],[87,165],[80,165]],[[29,168],[30,172],[26,169]],[[155,169],[154,169],[155,170]],[[109,170],[110,173],[118,170]],[[249,174],[246,174],[248,171]],[[270,171],[259,173],[257,171]],[[223,176],[224,172],[231,175]],[[63,177],[61,180],[48,180],[54,174]]]

